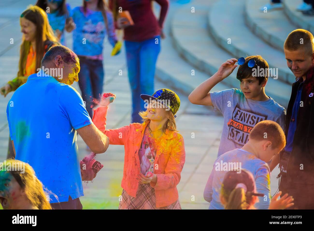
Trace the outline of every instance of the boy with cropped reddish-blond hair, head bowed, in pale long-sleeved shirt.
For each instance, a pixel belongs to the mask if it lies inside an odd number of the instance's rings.
[[[209,209],[224,209],[220,202],[221,184],[228,171],[250,171],[256,182],[257,193],[263,194],[256,204],[257,209],[268,209],[270,203],[270,170],[267,162],[276,156],[285,146],[284,131],[279,124],[264,120],[254,126],[249,134],[248,142],[242,148],[236,148],[219,156],[209,176],[204,190],[204,199],[210,202]],[[219,165],[223,163],[225,168]],[[238,166],[229,169],[226,166]],[[219,168],[220,167],[220,168]]]

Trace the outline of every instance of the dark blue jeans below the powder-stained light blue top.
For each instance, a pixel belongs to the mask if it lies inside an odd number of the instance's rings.
[[[81,70],[78,73],[78,85],[82,92],[83,101],[90,118],[93,118],[93,108],[96,104],[94,99],[99,100],[104,82],[104,68],[102,60],[92,60],[78,57]]]

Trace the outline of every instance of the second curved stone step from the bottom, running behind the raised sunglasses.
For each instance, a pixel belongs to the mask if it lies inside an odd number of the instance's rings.
[[[266,44],[246,27],[244,17],[239,16],[244,15],[244,8],[245,0],[214,3],[209,12],[209,30],[215,41],[238,58],[256,54],[263,56],[270,68],[278,68],[277,81],[294,82],[295,76],[287,67],[284,53]]]

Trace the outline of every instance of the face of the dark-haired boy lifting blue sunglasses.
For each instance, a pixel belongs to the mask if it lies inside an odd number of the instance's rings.
[[[266,85],[266,81],[262,82],[259,85],[259,81],[256,77],[249,77],[246,79],[240,80],[240,88],[247,99],[255,99],[257,98],[262,92],[263,87]]]

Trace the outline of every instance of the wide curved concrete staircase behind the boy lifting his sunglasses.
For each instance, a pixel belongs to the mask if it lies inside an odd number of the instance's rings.
[[[287,67],[281,47],[286,36],[297,27],[290,23],[282,10],[260,13],[258,8],[264,3],[267,1],[194,0],[180,6],[172,2],[171,6],[176,8],[174,14],[168,14],[172,16],[172,47],[168,41],[166,49],[175,48],[184,60],[174,57],[175,55],[171,57],[171,52],[165,52],[165,47],[162,46],[157,77],[162,76],[189,94],[213,75],[228,58],[259,54],[267,60],[270,68],[278,68],[279,73],[278,79],[269,77],[266,94],[286,107],[295,77]],[[191,68],[199,72],[191,76]],[[213,91],[239,88],[236,71],[237,69]]]

